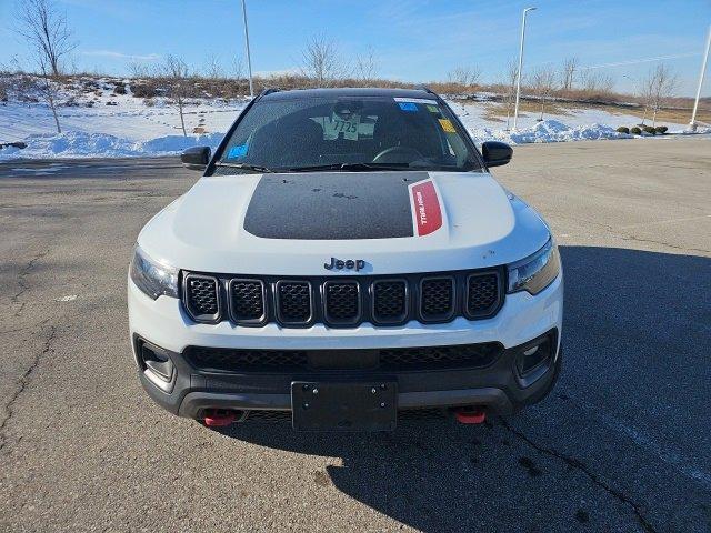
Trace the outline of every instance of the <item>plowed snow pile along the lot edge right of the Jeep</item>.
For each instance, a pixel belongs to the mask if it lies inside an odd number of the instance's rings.
[[[525,144],[531,142],[567,142],[593,141],[600,139],[631,139],[634,135],[619,133],[604,124],[588,124],[570,127],[558,120],[543,120],[530,128],[512,131],[491,130],[489,128],[473,128],[470,133],[480,142],[503,141],[510,144]]]

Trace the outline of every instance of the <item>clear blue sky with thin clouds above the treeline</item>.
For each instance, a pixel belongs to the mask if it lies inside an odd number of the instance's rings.
[[[73,57],[80,69],[122,74],[131,62],[150,64],[166,53],[194,69],[213,54],[228,69],[243,54],[240,0],[57,3],[80,42]],[[427,82],[473,64],[483,81],[499,81],[518,56],[521,10],[530,4],[538,10],[529,16],[524,69],[558,66],[570,56],[582,66],[629,62],[595,70],[632,91],[634,80],[658,64],[644,60],[664,57],[679,74],[678,92],[694,92],[709,0],[248,0],[252,66],[258,72],[298,68],[307,40],[326,36],[346,59],[372,47],[381,77]],[[14,0],[0,0],[0,63],[26,59],[13,32],[14,8]],[[710,91],[707,80],[703,94]]]

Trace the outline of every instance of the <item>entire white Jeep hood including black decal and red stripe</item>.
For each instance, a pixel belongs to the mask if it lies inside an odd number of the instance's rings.
[[[510,263],[549,239],[540,217],[488,173],[313,172],[204,177],[139,244],[181,269],[321,275],[360,261],[391,274]]]

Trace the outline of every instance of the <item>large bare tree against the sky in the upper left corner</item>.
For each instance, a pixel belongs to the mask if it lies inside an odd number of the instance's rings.
[[[38,63],[43,63],[49,74],[59,76],[63,58],[77,48],[67,17],[59,12],[52,0],[23,0],[19,4],[18,19],[17,31],[40,58]]]

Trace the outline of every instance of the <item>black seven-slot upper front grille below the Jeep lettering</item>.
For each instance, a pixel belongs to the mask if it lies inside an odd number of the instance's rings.
[[[442,323],[497,314],[503,304],[503,270],[301,279],[183,272],[182,301],[197,322],[230,320],[244,326]]]

